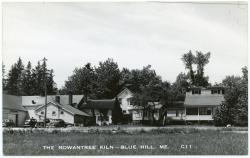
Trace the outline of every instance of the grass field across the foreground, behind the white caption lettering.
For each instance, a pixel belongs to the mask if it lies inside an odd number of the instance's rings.
[[[198,131],[192,133],[3,133],[4,155],[247,155],[247,133]],[[111,149],[100,149],[107,145]],[[121,149],[121,146],[136,149]],[[153,149],[142,149],[148,145]],[[167,145],[161,149],[160,145]],[[43,146],[54,146],[44,149]],[[59,149],[95,146],[96,149]],[[112,149],[113,147],[113,149]]]

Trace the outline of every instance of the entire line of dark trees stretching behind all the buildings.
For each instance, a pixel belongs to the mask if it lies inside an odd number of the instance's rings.
[[[173,83],[163,81],[151,65],[146,65],[142,69],[120,69],[117,62],[110,58],[99,62],[97,66],[86,63],[75,68],[63,88],[59,90],[53,80],[53,69],[47,68],[45,60],[42,63],[38,61],[32,68],[31,62],[24,67],[19,58],[7,75],[3,65],[3,90],[12,95],[44,95],[46,81],[48,94],[83,94],[87,101],[88,98],[113,99],[127,87],[134,93],[132,101],[136,105],[146,107],[149,101],[161,102],[163,117],[167,112],[167,106],[185,100],[185,89],[192,86],[212,86],[209,77],[204,73],[210,56],[210,52],[196,51],[194,54],[191,50],[183,54],[180,59],[188,72],[180,72]],[[226,89],[225,101],[214,115],[218,125],[239,125],[247,122],[247,67],[242,68],[242,72],[242,76],[226,76],[221,83],[216,84]]]

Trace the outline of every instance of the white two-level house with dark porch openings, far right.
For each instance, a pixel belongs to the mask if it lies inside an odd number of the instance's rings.
[[[224,101],[223,87],[193,87],[184,101],[186,121],[212,121],[215,109]]]

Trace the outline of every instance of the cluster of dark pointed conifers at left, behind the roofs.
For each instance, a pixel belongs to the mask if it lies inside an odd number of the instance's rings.
[[[47,68],[46,60],[42,61],[42,63],[38,61],[37,65],[32,68],[30,61],[24,66],[22,59],[19,57],[17,62],[11,66],[8,74],[5,74],[4,64],[2,69],[4,93],[17,96],[43,96],[45,94],[45,85],[47,94],[52,95],[57,92],[54,71]]]

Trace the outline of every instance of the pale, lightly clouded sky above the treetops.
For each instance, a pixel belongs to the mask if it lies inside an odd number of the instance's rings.
[[[247,66],[247,5],[162,2],[3,3],[2,59],[43,57],[60,88],[76,67],[113,58],[119,68],[151,65],[163,80],[187,72],[181,56],[211,52],[211,83]]]

